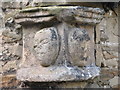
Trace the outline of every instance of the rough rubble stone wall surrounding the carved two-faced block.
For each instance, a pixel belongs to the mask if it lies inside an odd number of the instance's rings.
[[[100,7],[101,3],[51,3],[51,5],[82,5]],[[0,3],[0,80],[1,88],[48,87],[48,88],[118,88],[118,16],[113,11],[105,13],[103,20],[94,29],[95,63],[101,67],[101,73],[93,80],[82,82],[33,83],[20,82],[16,79],[16,70],[23,57],[23,32],[21,25],[14,23],[16,11],[21,8],[46,6],[50,3]],[[118,8],[115,9],[118,13]],[[56,13],[56,12],[55,12]],[[3,23],[1,23],[3,22]],[[54,22],[54,21],[53,21]],[[56,23],[56,22],[55,22]],[[50,24],[50,23],[49,23]],[[48,24],[48,25],[49,25]],[[28,26],[29,27],[29,26]],[[88,27],[89,28],[89,27]],[[32,33],[33,31],[27,31]],[[34,33],[34,32],[33,32]],[[29,36],[32,37],[32,36]],[[31,44],[29,44],[31,45]],[[120,72],[119,72],[120,73]]]

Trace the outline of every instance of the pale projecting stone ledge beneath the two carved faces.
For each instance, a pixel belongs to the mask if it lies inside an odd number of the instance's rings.
[[[29,82],[83,81],[98,76],[99,72],[99,68],[95,66],[84,68],[66,66],[28,67],[18,69],[17,79]]]

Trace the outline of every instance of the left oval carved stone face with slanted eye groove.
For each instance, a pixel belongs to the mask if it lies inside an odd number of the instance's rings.
[[[34,37],[34,50],[42,66],[55,63],[59,52],[59,37],[55,27],[44,28]]]

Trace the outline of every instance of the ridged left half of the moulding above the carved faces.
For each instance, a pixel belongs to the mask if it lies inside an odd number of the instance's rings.
[[[15,15],[15,21],[20,24],[26,23],[44,23],[55,19],[47,10],[39,10],[36,8],[28,9],[28,11],[19,11]],[[24,25],[23,24],[23,25]]]

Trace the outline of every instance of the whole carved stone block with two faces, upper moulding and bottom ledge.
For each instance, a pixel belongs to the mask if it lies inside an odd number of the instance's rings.
[[[99,75],[94,62],[94,25],[103,14],[99,8],[81,6],[20,10],[15,21],[23,26],[24,57],[17,79],[77,81]]]

